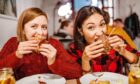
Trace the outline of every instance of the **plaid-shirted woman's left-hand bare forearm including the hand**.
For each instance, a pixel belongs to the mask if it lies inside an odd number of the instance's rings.
[[[90,60],[101,56],[103,51],[102,41],[93,42],[85,47],[82,55],[83,74],[91,72]]]

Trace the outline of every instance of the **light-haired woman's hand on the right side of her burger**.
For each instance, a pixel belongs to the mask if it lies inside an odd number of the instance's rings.
[[[51,65],[55,61],[57,50],[51,44],[41,44],[40,53],[48,58],[48,64]]]

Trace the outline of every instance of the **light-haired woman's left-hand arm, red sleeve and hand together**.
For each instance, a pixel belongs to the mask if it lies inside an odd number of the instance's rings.
[[[18,67],[24,54],[31,53],[35,49],[34,41],[18,42],[16,37],[11,38],[0,52],[0,68]]]

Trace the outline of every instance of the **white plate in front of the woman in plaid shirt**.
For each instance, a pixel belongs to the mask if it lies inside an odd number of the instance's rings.
[[[99,77],[99,75],[101,76]],[[108,80],[110,81],[111,84],[128,84],[127,76],[117,74],[117,73],[112,73],[112,72],[89,73],[89,74],[85,74],[80,78],[81,84],[90,84],[91,80]]]

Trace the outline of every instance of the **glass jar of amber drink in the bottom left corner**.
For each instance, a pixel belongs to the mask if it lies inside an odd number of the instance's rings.
[[[0,69],[0,84],[15,84],[12,68]]]

